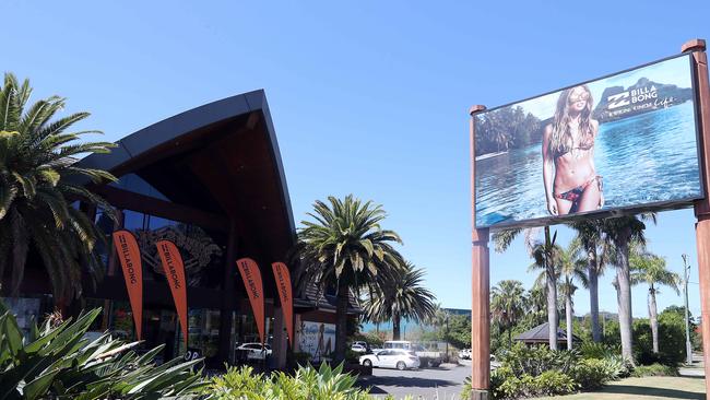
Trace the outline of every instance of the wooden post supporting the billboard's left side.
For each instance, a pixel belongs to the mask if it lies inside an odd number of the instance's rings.
[[[474,115],[486,107],[473,106],[471,115],[471,210],[473,210],[472,262],[471,262],[471,399],[487,400],[490,381],[490,278],[488,266],[487,228],[476,230],[475,181],[475,123]]]

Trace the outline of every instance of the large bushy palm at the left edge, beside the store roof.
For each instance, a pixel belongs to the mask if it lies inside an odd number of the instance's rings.
[[[47,271],[55,306],[62,309],[82,293],[82,271],[100,279],[104,264],[96,251],[103,240],[87,215],[70,207],[82,201],[98,205],[107,215],[113,209],[98,196],[74,184],[76,176],[95,183],[116,178],[100,169],[75,164],[86,153],[108,153],[107,142],[76,141],[87,133],[67,132],[88,113],[57,117],[66,99],[50,96],[28,105],[29,81],[22,83],[5,73],[0,89],[0,279],[9,267],[10,282],[2,292],[16,295],[29,250]]]

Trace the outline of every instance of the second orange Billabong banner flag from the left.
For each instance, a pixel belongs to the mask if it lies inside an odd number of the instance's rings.
[[[182,329],[182,340],[185,345],[188,343],[188,295],[187,282],[185,281],[185,266],[182,264],[182,257],[177,246],[170,240],[158,240],[156,244],[157,254],[161,256],[163,262],[163,270],[165,278],[170,286],[173,293],[173,301],[175,302],[175,309],[180,319],[180,328]]]

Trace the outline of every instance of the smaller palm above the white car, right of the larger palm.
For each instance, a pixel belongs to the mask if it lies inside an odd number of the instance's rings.
[[[436,297],[422,285],[424,270],[410,262],[392,274],[391,281],[378,284],[374,296],[365,302],[365,319],[372,322],[392,321],[392,340],[400,340],[402,318],[414,322],[428,321],[436,315]]]

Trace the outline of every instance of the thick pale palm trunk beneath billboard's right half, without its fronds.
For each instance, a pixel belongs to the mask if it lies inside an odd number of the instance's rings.
[[[634,363],[631,346],[634,343],[631,323],[631,277],[629,270],[628,234],[623,234],[618,240],[618,267],[616,267],[616,281],[618,282],[618,319],[622,337],[622,356]]]

